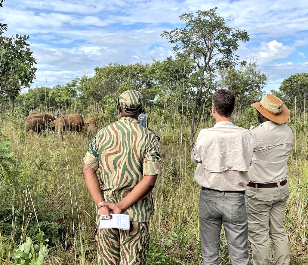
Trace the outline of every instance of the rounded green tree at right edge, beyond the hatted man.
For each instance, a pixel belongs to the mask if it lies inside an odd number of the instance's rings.
[[[297,73],[282,81],[279,90],[294,102],[298,115],[308,107],[308,73]]]

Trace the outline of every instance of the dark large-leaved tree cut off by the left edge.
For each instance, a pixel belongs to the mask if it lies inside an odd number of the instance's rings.
[[[4,0],[0,0],[0,7],[3,2]],[[7,25],[0,23],[0,94],[15,95],[19,93],[21,86],[28,87],[33,83],[36,61],[28,48],[29,36],[18,34],[10,38],[2,36],[6,30]],[[18,85],[16,85],[16,80],[18,80]],[[14,99],[12,103],[14,106]]]

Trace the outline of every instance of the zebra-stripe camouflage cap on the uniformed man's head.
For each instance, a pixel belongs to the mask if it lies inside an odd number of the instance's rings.
[[[121,109],[128,113],[137,112],[143,104],[141,93],[137,90],[126,90],[119,97]]]

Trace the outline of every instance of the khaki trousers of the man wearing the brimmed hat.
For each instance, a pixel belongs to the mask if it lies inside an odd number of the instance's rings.
[[[251,188],[245,191],[248,218],[248,239],[251,242],[253,265],[269,265],[270,239],[275,265],[290,263],[289,240],[284,226],[288,185],[278,188]]]

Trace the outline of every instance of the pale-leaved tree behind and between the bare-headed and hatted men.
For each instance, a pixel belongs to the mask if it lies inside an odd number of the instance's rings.
[[[241,65],[240,69],[234,67],[219,70],[220,87],[229,89],[235,96],[236,113],[242,114],[251,103],[256,102],[267,84],[267,75],[257,70],[256,62]]]

